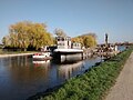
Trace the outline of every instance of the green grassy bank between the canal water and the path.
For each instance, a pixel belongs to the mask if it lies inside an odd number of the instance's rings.
[[[102,100],[115,83],[131,52],[132,49],[129,49],[92,67],[84,74],[68,80],[55,91],[41,96],[40,100]]]

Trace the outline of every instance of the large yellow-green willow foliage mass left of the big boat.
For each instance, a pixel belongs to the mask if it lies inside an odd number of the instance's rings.
[[[44,23],[33,23],[29,21],[11,24],[9,36],[2,39],[6,47],[27,49],[29,47],[37,50],[42,46],[53,44],[51,34],[47,31]]]

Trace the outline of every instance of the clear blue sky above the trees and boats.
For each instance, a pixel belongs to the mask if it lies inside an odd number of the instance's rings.
[[[0,0],[0,42],[20,21],[45,23],[76,37],[89,32],[98,42],[133,42],[133,0]]]

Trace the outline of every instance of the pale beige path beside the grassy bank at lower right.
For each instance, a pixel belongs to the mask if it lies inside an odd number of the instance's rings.
[[[133,100],[133,52],[105,100]]]

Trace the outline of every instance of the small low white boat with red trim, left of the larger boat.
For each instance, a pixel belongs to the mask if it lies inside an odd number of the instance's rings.
[[[33,60],[35,61],[45,61],[45,60],[50,60],[52,59],[52,57],[50,56],[50,52],[39,52],[39,53],[34,53],[32,56]]]

